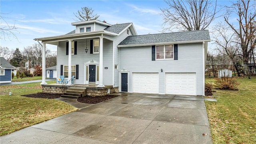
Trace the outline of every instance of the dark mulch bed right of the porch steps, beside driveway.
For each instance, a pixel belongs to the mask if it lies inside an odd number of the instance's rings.
[[[109,100],[116,96],[106,95],[106,96],[84,96],[77,99],[78,102],[87,103],[87,104],[97,104],[105,100]]]

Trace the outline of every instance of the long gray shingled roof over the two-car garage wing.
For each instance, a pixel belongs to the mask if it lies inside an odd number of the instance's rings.
[[[209,31],[196,30],[188,32],[128,36],[126,39],[120,42],[119,45],[154,44],[162,42],[182,42],[198,40],[210,40]]]

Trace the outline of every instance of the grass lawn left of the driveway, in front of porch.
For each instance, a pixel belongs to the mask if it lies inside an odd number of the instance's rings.
[[[37,92],[42,92],[40,82],[0,86],[0,135],[77,110],[59,100],[21,96]]]

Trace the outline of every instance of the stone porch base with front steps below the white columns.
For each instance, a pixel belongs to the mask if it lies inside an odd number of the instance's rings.
[[[118,92],[118,87],[111,85],[98,87],[98,84],[41,84],[42,92],[52,94],[62,94],[62,97],[79,98],[82,96],[106,96]]]

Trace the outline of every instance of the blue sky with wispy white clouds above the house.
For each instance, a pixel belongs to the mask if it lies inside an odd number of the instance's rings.
[[[218,3],[228,4],[229,1]],[[13,37],[1,39],[1,46],[23,50],[36,42],[34,38],[57,36],[74,30],[75,27],[71,25],[71,22],[75,22],[73,13],[84,6],[94,9],[94,13],[100,15],[98,20],[105,20],[109,24],[132,22],[138,34],[160,33],[163,23],[160,8],[166,8],[166,3],[162,0],[1,0],[0,6],[1,13],[6,13],[2,14],[6,22],[18,28],[18,32],[15,32],[18,40]],[[46,46],[56,51],[56,46]]]

